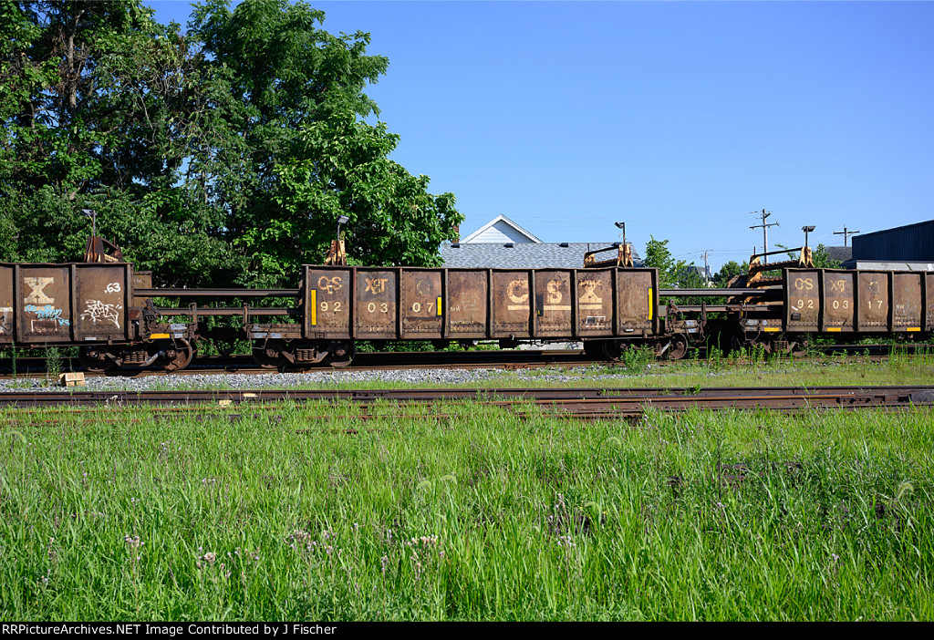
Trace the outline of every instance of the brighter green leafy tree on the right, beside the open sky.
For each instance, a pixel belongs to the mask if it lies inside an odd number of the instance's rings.
[[[347,215],[349,256],[372,264],[430,266],[462,217],[451,194],[389,160],[398,136],[362,118],[378,113],[363,90],[387,68],[364,53],[370,37],[319,29],[304,3],[227,0],[197,7],[193,35],[205,65],[229,77],[222,118],[237,132],[195,171],[227,213],[231,243],[248,258],[246,284],[272,284],[318,262]],[[239,144],[242,140],[243,144]]]

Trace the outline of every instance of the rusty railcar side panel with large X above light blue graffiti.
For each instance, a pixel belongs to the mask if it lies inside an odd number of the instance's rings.
[[[14,269],[17,341],[70,342],[71,270],[62,265],[24,265]]]

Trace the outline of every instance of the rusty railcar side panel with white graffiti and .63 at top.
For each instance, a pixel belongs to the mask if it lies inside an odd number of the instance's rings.
[[[74,336],[76,341],[131,339],[133,267],[128,264],[76,264]]]

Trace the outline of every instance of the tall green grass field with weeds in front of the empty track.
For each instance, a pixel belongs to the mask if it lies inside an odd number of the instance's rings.
[[[4,411],[0,618],[934,618],[929,410],[380,412]]]

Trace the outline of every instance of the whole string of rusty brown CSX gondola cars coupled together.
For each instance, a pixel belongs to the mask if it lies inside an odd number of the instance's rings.
[[[242,317],[243,328],[226,336],[248,339],[256,361],[271,368],[345,365],[363,340],[582,341],[590,355],[647,345],[678,358],[710,341],[794,351],[813,334],[927,337],[934,329],[934,273],[786,268],[773,280],[764,288],[659,290],[654,269],[306,265],[296,289],[154,289],[122,262],[3,264],[0,344],[79,346],[92,370],[172,370],[217,331],[205,327],[211,315]],[[726,303],[704,301],[728,295]],[[157,297],[195,302],[160,309]],[[293,303],[216,306],[257,297]]]

